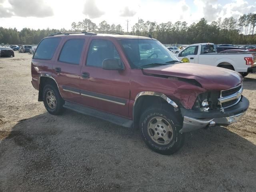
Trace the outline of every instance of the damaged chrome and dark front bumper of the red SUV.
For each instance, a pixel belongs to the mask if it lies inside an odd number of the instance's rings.
[[[215,125],[229,125],[239,121],[249,107],[249,100],[242,97],[241,101],[224,111],[198,112],[181,108],[184,118],[180,133],[190,132]]]

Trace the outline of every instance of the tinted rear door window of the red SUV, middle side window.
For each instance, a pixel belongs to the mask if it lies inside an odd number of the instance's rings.
[[[61,50],[59,61],[79,65],[84,42],[84,39],[67,40]]]

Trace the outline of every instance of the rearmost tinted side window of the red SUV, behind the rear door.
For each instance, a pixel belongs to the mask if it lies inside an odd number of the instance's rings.
[[[51,60],[54,52],[60,43],[61,38],[47,38],[40,42],[36,53],[34,54],[34,59],[46,59]],[[24,46],[22,46],[24,48]]]

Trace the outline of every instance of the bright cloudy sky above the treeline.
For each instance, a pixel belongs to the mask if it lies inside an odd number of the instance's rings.
[[[97,25],[106,20],[130,31],[138,22],[158,24],[180,20],[188,24],[206,18],[256,13],[256,0],[0,0],[0,26],[5,28],[65,28],[85,18]]]

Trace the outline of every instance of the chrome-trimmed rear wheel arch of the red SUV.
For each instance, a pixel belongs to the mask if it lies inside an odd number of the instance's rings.
[[[40,74],[38,83],[39,83],[38,101],[43,101],[42,93],[43,93],[43,88],[46,84],[51,84],[53,86],[56,86],[60,93],[60,89],[59,89],[59,86],[58,86],[56,80],[49,74]],[[62,97],[61,93],[60,93],[60,96]],[[62,99],[63,99],[63,97],[62,97]]]

